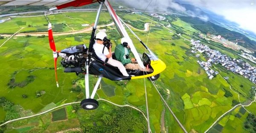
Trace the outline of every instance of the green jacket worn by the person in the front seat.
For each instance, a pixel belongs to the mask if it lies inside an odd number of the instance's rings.
[[[122,62],[123,65],[126,65],[128,63],[131,63],[130,59],[130,50],[128,48],[125,48],[122,46],[122,44],[119,44],[115,48],[115,56],[116,59],[120,62]]]

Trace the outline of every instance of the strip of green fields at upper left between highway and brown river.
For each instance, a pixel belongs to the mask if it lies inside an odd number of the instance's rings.
[[[109,23],[109,13],[102,12],[102,19],[99,24]],[[81,30],[87,28],[82,24],[92,25],[95,21],[96,12],[70,12],[63,14],[48,15],[52,29],[55,32],[64,32],[72,30]],[[47,32],[48,22],[45,16],[40,17],[13,17],[4,23],[1,23],[0,34],[13,34],[23,28],[20,32]]]

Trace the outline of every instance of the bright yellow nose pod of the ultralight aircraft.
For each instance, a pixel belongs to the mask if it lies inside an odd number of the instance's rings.
[[[131,79],[141,79],[141,78],[146,78],[146,77],[150,77],[150,76],[155,76],[157,74],[160,74],[166,68],[166,64],[161,59],[151,60],[150,65],[154,70],[153,73],[151,73],[151,74],[145,73],[145,75],[141,75],[141,76],[132,76]]]

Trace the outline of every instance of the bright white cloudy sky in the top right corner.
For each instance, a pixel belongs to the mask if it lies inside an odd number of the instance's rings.
[[[224,16],[256,33],[256,0],[183,0]],[[253,3],[253,4],[252,4]]]

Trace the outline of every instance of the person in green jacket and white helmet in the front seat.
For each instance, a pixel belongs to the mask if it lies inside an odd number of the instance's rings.
[[[121,44],[117,45],[115,48],[116,60],[122,62],[126,69],[147,71],[152,72],[152,69],[146,67],[141,68],[137,63],[136,59],[130,58],[130,46],[128,44],[128,39],[123,37],[121,39]]]

